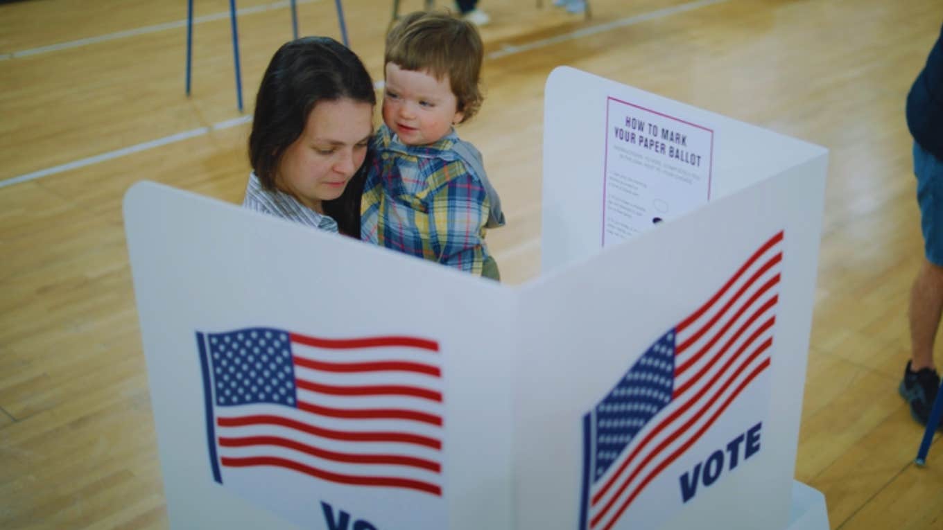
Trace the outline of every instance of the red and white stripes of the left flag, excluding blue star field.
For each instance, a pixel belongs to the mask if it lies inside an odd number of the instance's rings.
[[[223,468],[280,467],[339,484],[441,495],[438,345],[290,335],[297,408],[216,408]]]

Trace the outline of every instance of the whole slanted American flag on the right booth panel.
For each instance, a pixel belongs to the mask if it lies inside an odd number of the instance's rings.
[[[581,530],[636,527],[637,496],[769,368],[782,247],[781,231],[583,417]]]

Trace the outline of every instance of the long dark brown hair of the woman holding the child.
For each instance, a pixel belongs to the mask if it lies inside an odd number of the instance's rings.
[[[303,37],[278,48],[258,87],[249,134],[249,162],[265,189],[275,190],[282,155],[304,132],[314,106],[339,99],[376,105],[373,80],[354,52],[330,37]],[[355,235],[354,221],[335,214],[349,217],[356,210],[356,237],[360,234],[360,195],[353,196],[348,190],[356,188],[366,165],[361,166],[339,199],[323,203],[325,213],[334,217],[341,232],[348,235]],[[356,208],[347,204],[355,199]]]

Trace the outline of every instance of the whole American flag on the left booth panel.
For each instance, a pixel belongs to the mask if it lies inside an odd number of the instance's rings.
[[[196,339],[216,482],[231,470],[281,469],[441,497],[437,342],[320,339],[265,327]]]

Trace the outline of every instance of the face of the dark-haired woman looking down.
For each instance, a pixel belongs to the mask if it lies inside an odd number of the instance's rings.
[[[353,99],[322,101],[278,164],[275,185],[319,213],[337,199],[363,164],[373,130],[373,107]]]

